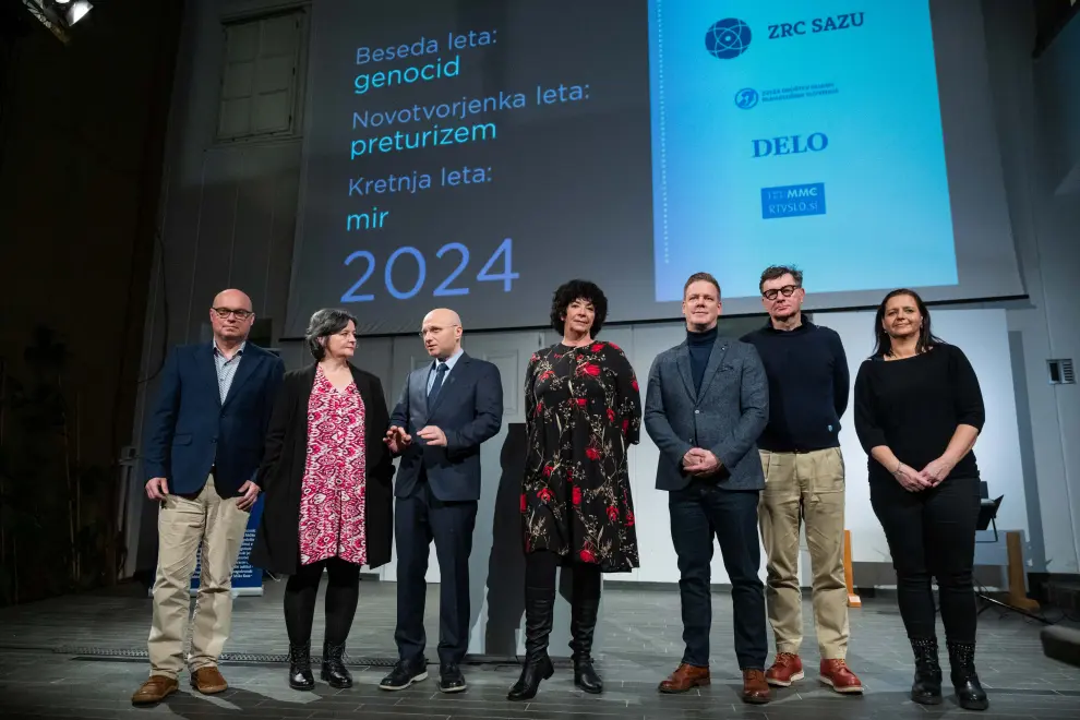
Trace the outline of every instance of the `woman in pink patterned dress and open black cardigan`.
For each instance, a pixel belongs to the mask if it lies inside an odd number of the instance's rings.
[[[311,317],[315,362],[285,375],[259,470],[265,492],[252,564],[289,575],[285,624],[289,685],[311,689],[311,626],[323,571],[326,635],[321,677],[349,687],[345,641],[360,596],[360,566],[391,559],[394,466],[382,437],[389,413],[382,384],[353,367],[357,322],[343,310]]]

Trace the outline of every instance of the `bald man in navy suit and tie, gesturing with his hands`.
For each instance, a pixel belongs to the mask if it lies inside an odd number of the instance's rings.
[[[460,662],[469,646],[469,555],[480,499],[480,444],[503,422],[503,383],[494,364],[461,350],[461,319],[432,310],[421,336],[432,362],[412,371],[391,413],[386,444],[401,455],[397,504],[399,661],[380,683],[405,689],[428,676],[423,656],[428,554],[439,559],[439,689],[466,688]]]

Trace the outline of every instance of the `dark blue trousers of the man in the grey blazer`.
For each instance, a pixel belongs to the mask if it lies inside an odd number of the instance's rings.
[[[720,543],[731,579],[735,657],[742,670],[765,670],[769,650],[765,585],[757,530],[757,490],[722,490],[709,479],[694,480],[669,493],[671,540],[679,556],[679,595],[683,609],[683,662],[709,665],[712,628],[710,591],[712,539]]]

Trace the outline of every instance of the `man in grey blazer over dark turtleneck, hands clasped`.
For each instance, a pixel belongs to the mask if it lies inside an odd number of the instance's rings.
[[[686,340],[652,363],[645,428],[660,448],[657,488],[667,490],[686,650],[661,693],[709,684],[712,539],[731,579],[735,656],[743,700],[769,701],[768,635],[757,530],[765,475],[756,441],[769,417],[769,385],[754,346],[718,334],[720,285],[695,273],[683,288]]]

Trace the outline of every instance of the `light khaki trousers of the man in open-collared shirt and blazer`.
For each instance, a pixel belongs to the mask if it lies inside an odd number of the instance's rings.
[[[212,475],[195,500],[168,495],[157,515],[157,577],[147,650],[152,675],[176,679],[191,608],[191,576],[202,545],[199,592],[191,627],[191,672],[217,664],[232,622],[232,568],[248,528],[237,499],[221,499]]]

